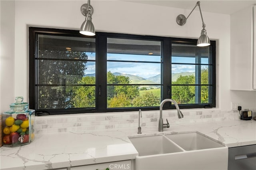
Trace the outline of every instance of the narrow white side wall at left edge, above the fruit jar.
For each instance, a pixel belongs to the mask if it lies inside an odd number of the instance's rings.
[[[2,113],[9,110],[10,103],[15,101],[15,3],[1,0],[0,11],[0,113]]]

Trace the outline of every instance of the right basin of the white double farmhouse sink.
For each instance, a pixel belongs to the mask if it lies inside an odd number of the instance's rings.
[[[166,137],[178,144],[184,150],[201,150],[223,147],[222,144],[215,142],[214,140],[211,140],[210,138],[207,138],[197,132],[169,134],[166,135]]]

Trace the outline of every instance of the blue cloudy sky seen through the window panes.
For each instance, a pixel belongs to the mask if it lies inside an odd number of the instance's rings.
[[[95,60],[95,53],[87,53],[88,59]],[[130,55],[130,54],[113,54],[108,53],[107,71],[111,73],[119,72],[123,74],[137,75],[143,78],[153,77],[160,74],[160,63],[140,63],[140,62],[118,62],[122,61],[152,61],[160,62],[161,57],[155,55]],[[194,58],[189,57],[172,57],[172,63],[195,63]],[[208,59],[202,59],[202,63],[207,64]],[[86,74],[95,73],[95,62],[86,63]],[[194,72],[195,65],[172,64],[172,73]]]

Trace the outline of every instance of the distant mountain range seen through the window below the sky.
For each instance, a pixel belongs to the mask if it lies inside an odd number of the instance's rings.
[[[122,76],[126,76],[130,78],[130,81],[132,84],[160,84],[160,74],[152,76],[152,77],[148,77],[148,78],[143,78],[137,75],[131,75],[131,74],[123,74],[123,73],[118,73],[115,72],[113,73],[114,75],[122,75]],[[181,76],[186,76],[186,75],[195,75],[195,72],[182,72],[182,73],[172,73],[172,81],[176,81],[178,79],[178,77]],[[86,74],[85,76],[92,76],[95,77],[95,73],[93,74]]]

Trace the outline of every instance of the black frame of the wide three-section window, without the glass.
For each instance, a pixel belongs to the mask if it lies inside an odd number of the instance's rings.
[[[96,39],[96,108],[69,108],[69,109],[36,109],[36,35],[37,34],[48,34],[48,35],[63,35],[73,37],[85,37]],[[121,112],[121,111],[138,111],[142,109],[144,111],[159,110],[159,107],[132,107],[132,108],[107,108],[107,38],[125,38],[134,40],[156,40],[161,41],[161,56],[162,56],[162,67],[161,67],[161,101],[163,99],[170,98],[172,91],[171,85],[171,54],[172,54],[172,43],[184,43],[195,45],[196,39],[188,38],[171,38],[171,37],[160,37],[160,36],[142,36],[142,35],[131,35],[131,34],[120,34],[120,33],[106,33],[96,32],[93,37],[84,36],[79,33],[78,30],[64,30],[55,28],[38,28],[29,27],[29,105],[30,109],[36,109],[36,115],[59,115],[59,114],[72,114],[72,113],[104,113],[104,112]],[[209,79],[211,82],[210,101],[211,103],[196,103],[196,104],[179,104],[180,109],[195,109],[195,108],[212,108],[216,107],[216,41],[210,41],[210,65],[212,66],[209,70]],[[200,48],[200,47],[199,47]],[[100,68],[100,69],[99,69]],[[99,71],[100,70],[100,71]],[[100,95],[99,95],[100,91]],[[99,104],[100,103],[100,104]],[[165,103],[164,109],[175,109],[171,103]]]

